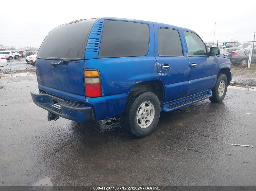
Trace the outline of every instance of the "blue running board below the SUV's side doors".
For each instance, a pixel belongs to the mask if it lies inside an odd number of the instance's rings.
[[[181,107],[186,107],[186,106],[191,105],[193,103],[196,103],[198,101],[205,100],[205,99],[207,99],[211,96],[212,96],[212,93],[211,93],[211,91],[209,91],[208,94],[200,95],[200,96],[197,96],[197,97],[192,97],[190,99],[183,100],[183,101],[180,101],[178,103],[166,103],[166,104],[163,105],[163,110],[164,111],[177,110]]]

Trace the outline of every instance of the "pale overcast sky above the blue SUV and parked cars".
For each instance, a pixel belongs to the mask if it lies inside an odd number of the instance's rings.
[[[196,2],[196,3],[195,3]],[[252,41],[256,1],[2,1],[0,44],[39,47],[58,25],[98,17],[172,24],[197,32],[204,42]],[[215,38],[214,24],[216,22]]]

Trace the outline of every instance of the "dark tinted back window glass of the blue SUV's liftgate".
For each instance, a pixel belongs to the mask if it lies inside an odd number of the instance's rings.
[[[84,59],[85,46],[96,19],[63,24],[53,29],[38,50],[40,59]]]

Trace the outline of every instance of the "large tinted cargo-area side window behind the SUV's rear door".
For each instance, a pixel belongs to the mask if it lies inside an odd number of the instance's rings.
[[[145,56],[148,43],[147,24],[105,20],[98,58]]]

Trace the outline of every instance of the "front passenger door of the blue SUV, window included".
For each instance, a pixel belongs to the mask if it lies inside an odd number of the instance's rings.
[[[187,96],[209,91],[216,81],[217,59],[209,56],[201,38],[193,32],[184,31],[190,65]]]

